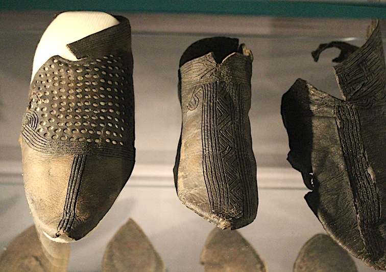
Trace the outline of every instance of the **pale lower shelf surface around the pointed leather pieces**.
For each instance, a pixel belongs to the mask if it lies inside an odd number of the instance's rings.
[[[0,190],[0,245],[6,247],[33,220],[21,183],[0,184]],[[239,230],[269,271],[292,271],[303,244],[325,233],[307,207],[305,193],[306,189],[259,188],[257,218]],[[130,181],[99,226],[71,244],[68,270],[100,271],[108,241],[129,218],[149,237],[168,271],[204,271],[200,254],[215,226],[182,205],[172,183],[139,186]],[[356,266],[358,271],[373,271],[359,260]]]

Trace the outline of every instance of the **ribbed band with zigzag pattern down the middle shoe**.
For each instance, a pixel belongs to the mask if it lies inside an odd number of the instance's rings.
[[[225,219],[254,215],[253,178],[245,141],[244,84],[203,87],[203,169],[212,211]]]

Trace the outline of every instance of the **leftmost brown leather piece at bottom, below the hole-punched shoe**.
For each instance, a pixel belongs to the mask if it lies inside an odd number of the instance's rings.
[[[69,257],[69,247],[61,255]],[[46,257],[34,225],[14,238],[0,255],[2,271],[67,271],[67,265],[68,259],[53,262]]]

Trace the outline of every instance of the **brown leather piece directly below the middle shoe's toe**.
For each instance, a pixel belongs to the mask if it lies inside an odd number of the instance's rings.
[[[266,272],[266,265],[237,231],[215,228],[208,236],[200,257],[206,272]]]

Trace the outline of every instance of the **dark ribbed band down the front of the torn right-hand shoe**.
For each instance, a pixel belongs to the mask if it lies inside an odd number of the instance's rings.
[[[357,225],[364,246],[373,260],[384,254],[384,243],[378,230],[380,201],[376,182],[370,174],[366,150],[360,135],[356,106],[335,106],[336,123],[348,168],[357,213]]]

